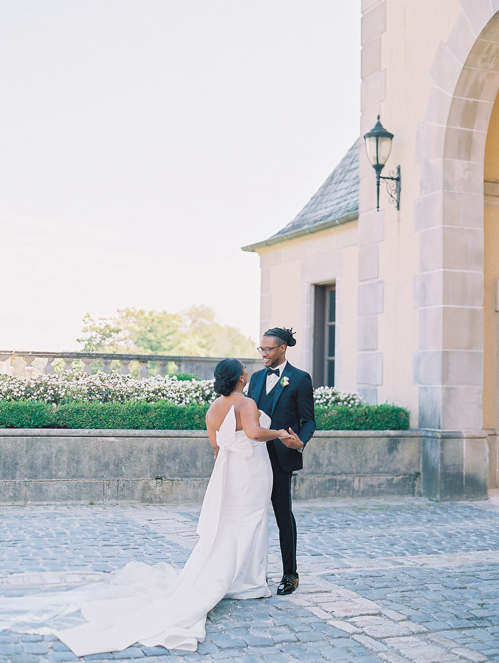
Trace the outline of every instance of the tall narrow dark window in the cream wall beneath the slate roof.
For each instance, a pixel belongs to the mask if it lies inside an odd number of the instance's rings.
[[[336,288],[315,286],[313,383],[335,386]]]

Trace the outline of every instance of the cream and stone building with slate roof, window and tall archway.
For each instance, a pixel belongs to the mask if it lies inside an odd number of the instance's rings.
[[[499,0],[362,0],[361,34],[359,140],[296,219],[245,247],[262,330],[298,328],[293,360],[317,385],[410,410],[423,494],[483,497],[498,486]],[[362,136],[378,115],[400,211],[383,184],[376,211]]]

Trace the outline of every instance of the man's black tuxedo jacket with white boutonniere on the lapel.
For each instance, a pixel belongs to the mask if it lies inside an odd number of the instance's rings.
[[[287,377],[289,383],[286,387],[281,384],[282,378]],[[258,405],[258,398],[265,389],[267,371],[256,371],[250,378],[248,396]],[[300,440],[305,444],[315,431],[315,416],[313,406],[312,380],[308,373],[294,368],[289,362],[282,371],[281,380],[277,383],[272,402],[272,410],[266,412],[274,429],[292,428]],[[296,449],[288,449],[278,439],[272,440],[276,448],[280,466],[284,471],[293,472],[302,469],[303,457]]]

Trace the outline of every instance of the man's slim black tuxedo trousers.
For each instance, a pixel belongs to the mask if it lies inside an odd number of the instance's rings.
[[[279,464],[274,442],[267,442],[268,456],[272,465],[272,509],[279,528],[282,556],[282,572],[296,573],[296,520],[291,508],[291,477]]]

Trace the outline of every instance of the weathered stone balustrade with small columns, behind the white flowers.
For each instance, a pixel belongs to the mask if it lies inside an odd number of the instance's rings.
[[[114,367],[118,364],[118,372],[121,375],[130,375],[129,364],[132,361],[139,363],[139,378],[140,380],[149,377],[150,363],[157,364],[158,375],[166,375],[168,365],[174,363],[176,366],[176,373],[190,373],[203,380],[213,378],[213,369],[223,357],[186,357],[183,355],[127,355],[121,353],[101,353],[101,352],[37,352],[37,351],[1,351],[0,350],[0,373],[4,375],[12,375],[14,371],[13,361],[21,357],[25,361],[23,373],[27,379],[32,377],[34,366],[32,363],[35,359],[44,361],[44,365],[40,368],[40,372],[46,375],[54,373],[53,363],[57,359],[64,361],[64,371],[74,371],[74,362],[78,362],[85,373],[91,373],[91,364],[95,359],[101,360],[104,373],[113,373],[111,363]],[[262,368],[262,361],[259,358],[255,359],[242,359],[247,367],[248,373],[251,375],[253,371]]]

